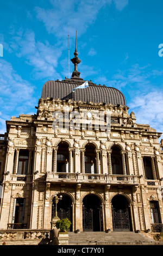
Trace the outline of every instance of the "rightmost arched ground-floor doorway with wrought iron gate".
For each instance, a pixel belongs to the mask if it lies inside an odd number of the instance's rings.
[[[112,203],[112,227],[113,231],[132,231],[130,207],[126,197],[117,195]]]

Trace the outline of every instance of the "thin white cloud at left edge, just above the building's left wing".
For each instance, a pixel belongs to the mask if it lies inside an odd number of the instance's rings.
[[[4,59],[0,59],[0,88],[1,88],[1,126],[5,129],[5,120],[12,115],[29,112],[36,103],[34,86],[12,68],[12,65]],[[5,130],[4,130],[5,131]]]

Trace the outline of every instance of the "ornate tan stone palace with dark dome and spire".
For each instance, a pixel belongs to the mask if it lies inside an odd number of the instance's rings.
[[[70,233],[162,230],[162,133],[136,123],[120,90],[84,81],[77,56],[76,49],[71,78],[43,84],[36,114],[6,121],[0,140],[6,240],[16,239],[16,230],[28,230],[26,238],[32,230],[48,233],[56,216],[71,221]]]

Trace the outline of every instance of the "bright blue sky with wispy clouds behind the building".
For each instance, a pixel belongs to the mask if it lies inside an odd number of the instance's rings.
[[[68,77],[68,26],[70,59],[77,28],[80,77],[120,89],[136,122],[163,132],[162,0],[0,0],[0,7],[0,133],[11,116],[36,113],[46,81]]]

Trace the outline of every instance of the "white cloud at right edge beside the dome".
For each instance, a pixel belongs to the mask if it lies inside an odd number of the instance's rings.
[[[149,124],[156,131],[163,131],[162,84],[155,83],[163,70],[152,70],[150,65],[134,64],[127,70],[118,70],[107,86],[123,90],[130,95],[127,105],[136,116],[136,122]]]

